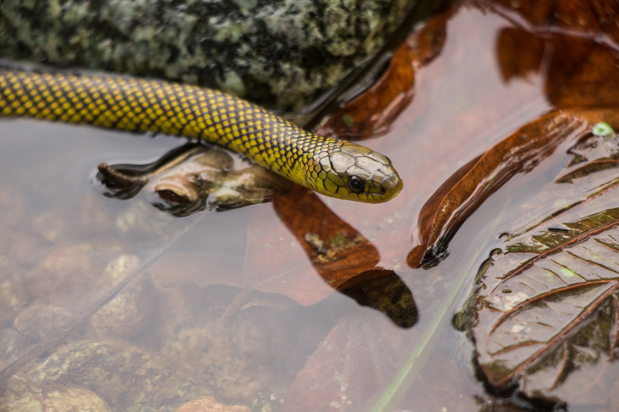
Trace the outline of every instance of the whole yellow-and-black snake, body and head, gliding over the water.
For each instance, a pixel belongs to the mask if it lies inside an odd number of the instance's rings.
[[[0,66],[0,115],[204,140],[333,198],[381,203],[403,183],[391,160],[307,132],[222,91],[105,72]]]

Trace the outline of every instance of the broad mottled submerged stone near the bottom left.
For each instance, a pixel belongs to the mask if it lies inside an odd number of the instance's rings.
[[[173,411],[184,402],[212,395],[149,351],[118,341],[69,343],[28,372],[45,385],[81,385],[112,410]]]

